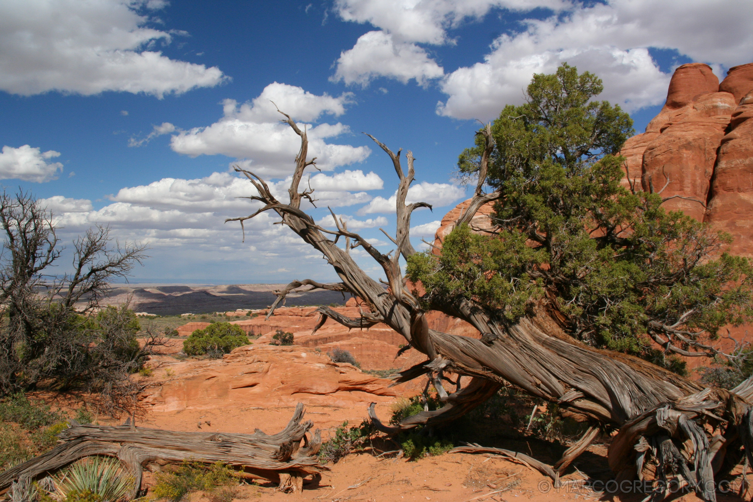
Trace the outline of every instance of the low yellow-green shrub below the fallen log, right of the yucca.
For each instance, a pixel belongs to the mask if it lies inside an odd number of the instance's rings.
[[[157,473],[155,477],[157,484],[152,488],[154,496],[174,502],[191,491],[211,490],[218,486],[233,485],[238,481],[236,473],[221,462],[207,465],[183,461],[169,472]]]

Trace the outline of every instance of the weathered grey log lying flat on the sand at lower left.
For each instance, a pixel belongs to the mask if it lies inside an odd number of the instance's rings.
[[[58,434],[60,443],[49,452],[0,473],[0,490],[17,479],[31,481],[90,455],[107,455],[120,459],[133,473],[131,498],[141,491],[142,465],[157,460],[222,462],[242,467],[249,476],[279,482],[284,491],[300,491],[303,477],[329,470],[317,457],[322,445],[319,429],[309,440],[306,432],[313,423],[301,422],[303,413],[299,403],[287,427],[272,435],[259,429],[254,434],[226,434],[75,424]]]

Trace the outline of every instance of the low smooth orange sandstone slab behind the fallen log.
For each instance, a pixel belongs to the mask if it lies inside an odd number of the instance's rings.
[[[296,403],[353,406],[384,403],[402,395],[386,379],[333,363],[311,348],[246,345],[222,359],[175,363],[149,361],[151,378],[142,403],[155,412],[184,409],[239,409],[250,406],[295,406]],[[169,372],[167,371],[169,370]]]

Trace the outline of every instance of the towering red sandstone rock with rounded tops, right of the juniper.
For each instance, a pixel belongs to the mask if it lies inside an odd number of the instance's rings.
[[[730,68],[721,84],[708,65],[681,65],[662,110],[622,151],[630,179],[640,175],[644,190],[666,184],[662,196],[677,196],[664,202],[667,209],[726,230],[735,238],[730,251],[747,256],[753,256],[751,91],[753,63]]]

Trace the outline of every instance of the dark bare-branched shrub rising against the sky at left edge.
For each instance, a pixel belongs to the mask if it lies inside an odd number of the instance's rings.
[[[121,245],[94,227],[73,242],[73,271],[51,275],[62,248],[50,211],[29,193],[2,193],[0,225],[0,396],[43,384],[127,392],[160,340],[139,345],[128,305],[100,303],[114,278],[142,263],[145,245]]]

